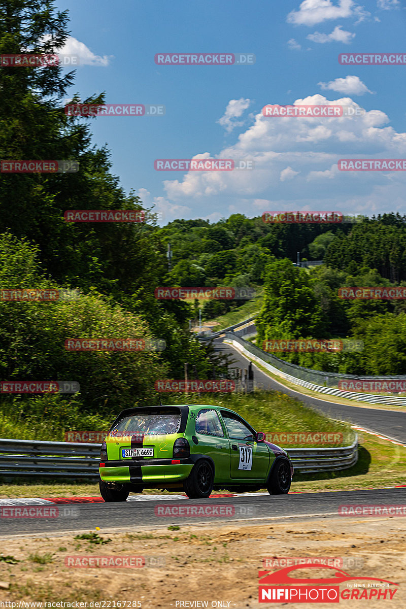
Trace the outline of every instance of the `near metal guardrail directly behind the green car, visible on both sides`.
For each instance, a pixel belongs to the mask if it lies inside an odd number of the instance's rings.
[[[0,439],[0,477],[99,480],[100,444]],[[358,436],[340,448],[286,448],[296,471],[345,470],[358,460]]]

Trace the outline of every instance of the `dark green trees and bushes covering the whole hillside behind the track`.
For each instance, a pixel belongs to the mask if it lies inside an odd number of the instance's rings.
[[[51,0],[0,0],[0,16],[0,53],[55,53],[69,34],[67,12],[57,11]],[[197,321],[198,308],[209,320],[243,301],[157,300],[159,286],[263,288],[260,343],[268,337],[354,337],[365,343],[362,353],[286,359],[366,375],[406,372],[405,302],[343,301],[337,295],[345,286],[406,284],[406,216],[334,226],[271,225],[261,216],[237,213],[212,224],[177,219],[159,227],[153,209],[134,192],[127,194],[111,173],[107,147],[92,144],[91,119],[65,114],[63,100],[72,96],[74,76],[64,76],[58,65],[0,69],[0,158],[79,162],[76,173],[0,174],[1,289],[63,287],[77,294],[69,302],[0,300],[2,379],[77,380],[75,407],[96,414],[154,403],[154,379],[182,378],[184,362],[198,378],[226,376],[227,358],[199,343],[189,323]],[[73,94],[73,103],[103,101],[103,94],[83,100]],[[144,210],[145,222],[68,223],[67,209]],[[324,264],[295,267],[297,252]],[[161,339],[166,349],[64,348],[67,338],[118,333]],[[13,399],[21,404],[30,398]],[[70,403],[63,396],[55,403],[64,399]]]

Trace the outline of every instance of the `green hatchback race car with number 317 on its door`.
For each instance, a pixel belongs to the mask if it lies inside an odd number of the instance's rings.
[[[233,410],[185,404],[123,410],[102,443],[99,473],[105,501],[126,501],[145,488],[195,499],[220,488],[286,495],[293,465]]]

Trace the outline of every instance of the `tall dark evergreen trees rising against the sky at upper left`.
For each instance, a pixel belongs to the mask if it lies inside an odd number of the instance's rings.
[[[0,0],[0,54],[57,54],[68,36],[68,12],[52,0]],[[66,209],[141,209],[111,175],[108,150],[91,145],[89,124],[66,116],[73,81],[60,65],[0,68],[0,158],[79,161],[77,173],[0,174],[0,230],[29,236],[61,283],[117,296],[156,286],[165,259],[152,227],[63,219]]]

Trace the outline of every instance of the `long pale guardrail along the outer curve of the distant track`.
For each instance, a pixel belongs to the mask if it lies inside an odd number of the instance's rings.
[[[225,339],[228,340],[232,345],[236,347],[245,356],[250,357],[253,361],[261,364],[264,368],[272,372],[277,376],[281,376],[287,381],[293,382],[295,385],[306,387],[306,389],[312,389],[320,393],[328,393],[329,395],[337,395],[340,398],[347,398],[348,400],[358,400],[363,402],[369,402],[372,404],[394,404],[395,406],[406,406],[406,396],[398,397],[394,395],[376,395],[374,393],[360,393],[343,391],[341,389],[335,389],[334,387],[328,387],[326,385],[320,385],[320,381],[327,382],[331,381],[338,382],[340,379],[355,379],[355,380],[366,380],[373,381],[376,379],[383,379],[384,376],[355,376],[355,375],[342,375],[339,373],[328,373],[320,370],[311,370],[310,368],[303,368],[296,364],[290,364],[285,362],[279,357],[262,351],[253,343],[242,339],[234,332],[223,333]],[[389,378],[389,377],[388,377]],[[391,379],[405,379],[405,376],[391,376]],[[313,382],[312,382],[313,381]],[[314,382],[315,381],[315,382]]]

